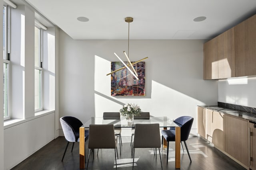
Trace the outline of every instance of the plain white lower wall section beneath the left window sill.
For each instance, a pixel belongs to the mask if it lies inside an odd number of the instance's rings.
[[[9,170],[54,139],[54,112],[4,129],[4,170]]]

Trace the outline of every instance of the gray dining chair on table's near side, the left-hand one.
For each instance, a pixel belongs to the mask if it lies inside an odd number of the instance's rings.
[[[118,158],[116,143],[117,143],[117,140],[116,140],[116,136],[114,133],[114,125],[113,124],[90,125],[89,126],[89,139],[88,139],[89,155],[88,155],[87,169],[88,169],[91,149],[93,149],[93,150],[94,149],[114,149],[115,150],[115,160],[116,160],[116,154],[117,154],[117,158]]]

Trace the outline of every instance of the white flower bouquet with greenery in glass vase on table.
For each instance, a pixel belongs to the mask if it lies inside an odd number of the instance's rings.
[[[122,109],[120,109],[120,113],[123,117],[126,117],[128,121],[134,120],[134,115],[139,116],[140,115],[140,106],[137,106],[135,104],[125,104]]]

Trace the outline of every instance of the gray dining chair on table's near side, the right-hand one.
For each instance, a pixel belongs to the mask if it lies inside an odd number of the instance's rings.
[[[134,166],[134,154],[135,148],[158,148],[159,156],[162,167],[162,160],[160,154],[161,147],[161,139],[160,139],[160,130],[159,124],[136,124],[134,131],[134,141],[133,141],[133,161],[132,161],[132,169]]]

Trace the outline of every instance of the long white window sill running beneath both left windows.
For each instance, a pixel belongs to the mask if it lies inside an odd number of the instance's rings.
[[[27,119],[8,119],[6,121],[4,121],[4,129],[8,129],[10,127],[19,125],[21,123],[33,120],[33,119],[37,119],[39,117],[42,117],[44,115],[48,115],[50,113],[54,113],[54,110],[42,110],[42,111],[38,111],[35,113],[34,117],[29,117]]]

